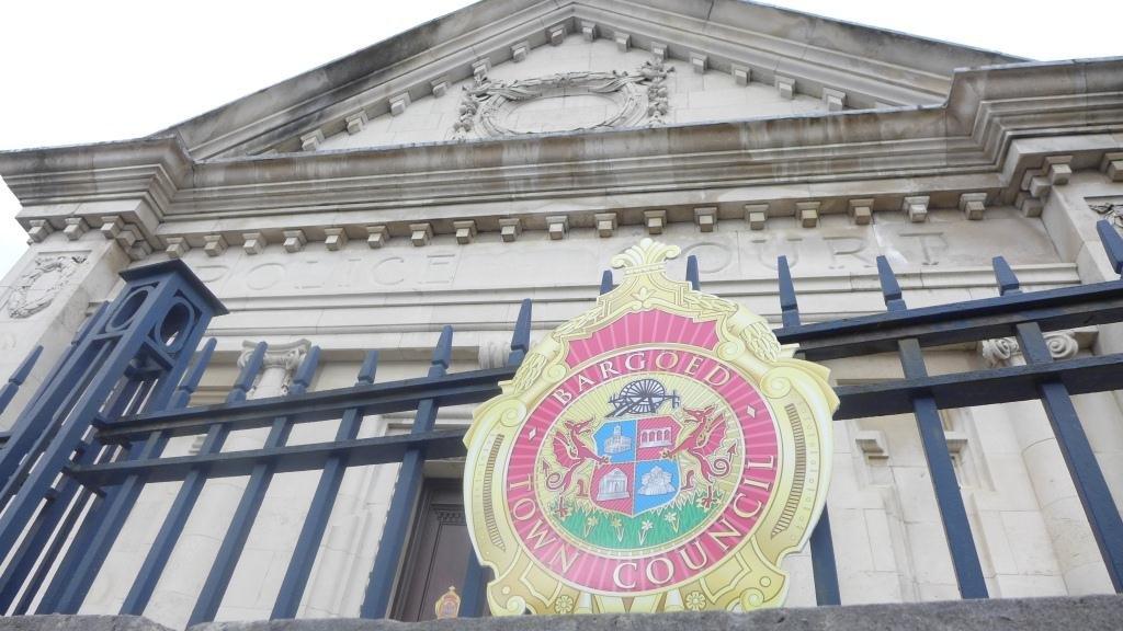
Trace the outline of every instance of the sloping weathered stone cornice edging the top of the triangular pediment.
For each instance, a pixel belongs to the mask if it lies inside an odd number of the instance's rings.
[[[341,60],[283,81],[171,128],[197,158],[261,150],[303,131],[346,125],[359,108],[376,115],[402,92],[428,94],[435,80],[469,76],[481,58],[512,56],[512,45],[546,43],[583,20],[601,36],[623,27],[637,45],[665,39],[668,54],[712,48],[711,63],[796,76],[812,91],[848,84],[862,99],[935,102],[957,67],[1010,63],[1016,57],[734,0],[489,0],[430,21]],[[374,68],[374,70],[371,70]],[[246,145],[248,143],[248,145]],[[294,149],[295,146],[287,147]]]

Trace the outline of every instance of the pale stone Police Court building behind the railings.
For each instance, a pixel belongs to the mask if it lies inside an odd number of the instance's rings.
[[[250,396],[285,392],[310,344],[313,390],[354,383],[369,348],[380,381],[421,374],[446,323],[453,369],[495,366],[522,299],[542,335],[648,235],[777,323],[778,255],[809,321],[883,310],[877,255],[911,305],[994,295],[998,254],[1028,291],[1114,277],[1095,222],[1123,222],[1123,60],[1030,62],[737,0],[484,0],[152,136],[0,153],[0,175],[31,241],[0,285],[0,374],[45,347],[22,400],[119,272],[177,258],[231,311],[209,331],[218,363],[197,402],[213,403],[258,340]],[[1110,328],[1049,342],[1054,357],[1121,346]],[[1012,339],[928,359],[1022,362]],[[893,356],[831,368],[840,384],[901,376]],[[1123,505],[1121,401],[1076,401]],[[362,436],[410,423],[369,418]],[[992,595],[1112,591],[1038,402],[953,410],[944,429]],[[842,602],[958,597],[911,417],[838,422],[834,450]],[[394,475],[348,473],[301,616],[357,614]],[[457,464],[427,475],[453,506],[440,481]],[[219,620],[270,614],[316,482],[279,479]],[[148,618],[183,627],[244,484],[208,482]],[[175,490],[145,491],[83,612],[117,611]],[[807,555],[787,569],[788,602],[814,604]]]

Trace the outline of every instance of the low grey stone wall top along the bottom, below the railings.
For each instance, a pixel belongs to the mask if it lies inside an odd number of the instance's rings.
[[[210,622],[190,631],[1115,631],[1123,596],[999,598],[751,613],[520,616],[405,623],[392,620]],[[143,618],[36,615],[0,618],[0,631],[170,631]]]

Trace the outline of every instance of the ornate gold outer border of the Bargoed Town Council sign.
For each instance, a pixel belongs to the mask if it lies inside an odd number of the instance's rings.
[[[494,614],[743,611],[783,602],[788,582],[779,564],[806,543],[825,503],[831,414],[838,397],[828,384],[829,371],[795,359],[795,346],[782,347],[764,318],[667,277],[665,262],[678,254],[677,246],[643,239],[614,256],[613,267],[623,269],[620,284],[536,344],[514,377],[500,384],[502,394],[475,410],[465,436],[465,512],[481,564],[495,573],[487,586]],[[505,494],[496,476],[505,469],[529,411],[566,377],[569,341],[651,308],[697,322],[715,321],[716,358],[757,384],[777,426],[780,463],[774,500],[783,501],[769,501],[751,534],[701,577],[650,594],[594,594],[554,575],[526,552],[503,513]]]

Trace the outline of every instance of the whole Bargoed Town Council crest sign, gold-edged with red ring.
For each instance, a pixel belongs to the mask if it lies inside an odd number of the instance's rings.
[[[776,606],[827,497],[828,371],[767,322],[673,281],[675,246],[530,349],[465,437],[492,613]]]

